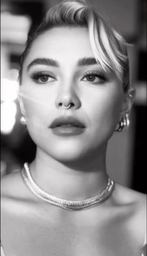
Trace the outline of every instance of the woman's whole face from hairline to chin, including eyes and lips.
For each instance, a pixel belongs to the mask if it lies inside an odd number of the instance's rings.
[[[95,62],[86,28],[52,28],[40,35],[24,61],[20,90],[32,140],[59,161],[105,147],[124,99],[118,79]]]

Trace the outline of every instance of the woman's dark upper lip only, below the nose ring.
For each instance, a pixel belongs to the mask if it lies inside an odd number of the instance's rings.
[[[55,128],[60,125],[73,125],[81,128],[85,128],[85,125],[73,116],[60,116],[52,121],[50,128]]]

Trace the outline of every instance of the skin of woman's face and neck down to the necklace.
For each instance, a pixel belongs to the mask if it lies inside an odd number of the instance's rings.
[[[36,160],[31,165],[34,178],[45,190],[51,189],[55,195],[70,199],[91,196],[105,187],[107,142],[120,113],[124,115],[128,108],[123,88],[116,77],[104,73],[107,77],[105,83],[99,78],[93,83],[83,79],[87,71],[102,72],[99,64],[79,68],[78,60],[85,57],[94,57],[86,28],[51,29],[34,42],[24,63],[20,88],[22,113],[37,145]],[[27,71],[36,58],[52,58],[60,66],[34,65]],[[34,71],[46,71],[55,79],[37,83],[31,78]],[[60,106],[70,102],[73,107],[69,110]],[[50,124],[59,116],[69,115],[85,123],[85,132],[79,136],[55,136],[49,129]],[[56,187],[57,177],[62,180],[62,185]]]

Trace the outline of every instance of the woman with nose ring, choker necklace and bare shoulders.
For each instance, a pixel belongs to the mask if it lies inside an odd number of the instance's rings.
[[[133,103],[123,38],[85,2],[64,1],[29,35],[19,81],[37,152],[2,181],[5,255],[141,255],[145,195],[105,166]]]

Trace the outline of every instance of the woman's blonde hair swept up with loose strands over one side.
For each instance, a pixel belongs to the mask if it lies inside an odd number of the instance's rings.
[[[84,0],[65,0],[49,9],[40,26],[29,34],[26,49],[22,54],[19,79],[21,82],[22,64],[33,41],[40,34],[57,26],[84,26],[88,29],[95,59],[105,71],[112,71],[123,84],[125,92],[130,88],[130,71],[125,39],[111,26],[102,14],[95,11]]]

